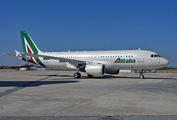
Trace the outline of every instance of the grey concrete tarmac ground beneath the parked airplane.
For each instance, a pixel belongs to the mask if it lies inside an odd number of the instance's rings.
[[[0,70],[0,120],[177,119],[177,73]]]

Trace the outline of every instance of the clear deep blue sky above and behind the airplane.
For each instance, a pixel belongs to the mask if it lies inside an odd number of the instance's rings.
[[[177,67],[177,0],[1,0],[0,53],[23,51],[26,30],[41,51],[150,50]],[[0,66],[23,62],[0,55]]]

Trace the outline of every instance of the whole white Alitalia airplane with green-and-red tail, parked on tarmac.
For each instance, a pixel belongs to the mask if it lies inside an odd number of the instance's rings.
[[[80,78],[79,72],[86,72],[88,77],[118,74],[119,70],[143,70],[166,67],[169,62],[155,52],[146,50],[114,50],[114,51],[79,51],[79,52],[42,52],[35,45],[26,31],[21,31],[23,52],[14,56],[24,61],[49,68],[76,69],[74,78]]]

